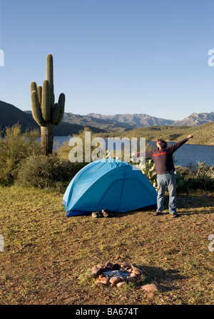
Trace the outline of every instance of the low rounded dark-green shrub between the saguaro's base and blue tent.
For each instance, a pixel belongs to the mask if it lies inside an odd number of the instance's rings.
[[[39,188],[63,188],[78,172],[80,167],[58,156],[32,155],[21,161],[16,183]]]

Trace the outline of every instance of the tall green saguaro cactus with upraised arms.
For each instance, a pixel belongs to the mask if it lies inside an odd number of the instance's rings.
[[[61,123],[66,97],[59,95],[58,103],[54,103],[54,66],[53,56],[46,58],[46,80],[43,87],[31,82],[31,106],[34,120],[41,127],[41,149],[45,155],[53,151],[54,126]]]

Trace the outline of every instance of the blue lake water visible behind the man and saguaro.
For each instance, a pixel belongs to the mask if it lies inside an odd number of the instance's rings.
[[[56,145],[63,145],[64,141],[68,141],[68,136],[55,136],[54,148]],[[174,144],[169,142],[168,145]],[[155,142],[151,142],[156,147]],[[188,166],[189,164],[197,164],[197,162],[205,162],[207,165],[214,165],[214,145],[195,145],[184,144],[174,153],[174,164],[180,166]]]

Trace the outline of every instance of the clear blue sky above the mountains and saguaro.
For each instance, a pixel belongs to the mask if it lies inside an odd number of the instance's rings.
[[[0,0],[0,100],[31,110],[54,56],[66,112],[182,120],[214,110],[213,0]]]

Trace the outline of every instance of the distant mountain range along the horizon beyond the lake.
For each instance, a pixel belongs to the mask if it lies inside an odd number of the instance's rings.
[[[0,128],[11,127],[19,122],[22,130],[26,128],[39,129],[31,111],[22,111],[14,105],[0,101]],[[214,122],[214,112],[210,113],[192,113],[183,120],[165,120],[147,114],[116,114],[101,115],[89,113],[87,115],[76,115],[65,113],[63,122],[55,127],[55,135],[77,134],[84,127],[90,128],[92,132],[116,132],[128,131],[138,127],[152,126],[198,126],[204,123]]]

